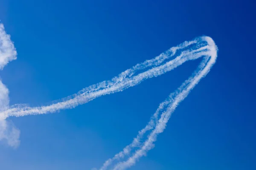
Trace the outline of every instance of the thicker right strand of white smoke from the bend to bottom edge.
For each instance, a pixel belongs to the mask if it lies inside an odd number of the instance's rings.
[[[157,124],[154,127],[154,130],[150,133],[148,136],[148,139],[143,143],[143,146],[140,147],[139,150],[136,150],[135,153],[129,157],[126,161],[122,161],[117,163],[113,170],[124,170],[128,167],[131,167],[136,163],[136,161],[142,157],[145,156],[146,152],[148,150],[151,150],[154,147],[154,142],[157,140],[157,136],[159,133],[162,133],[163,130],[166,128],[166,123],[168,122],[171,114],[175,111],[175,108],[177,105],[186,98],[186,96],[189,94],[189,92],[192,90],[192,88],[195,87],[195,85],[198,84],[201,78],[205,77],[208,72],[210,71],[210,68],[212,65],[215,63],[217,59],[217,47],[214,43],[214,41],[210,37],[202,37],[203,40],[206,40],[207,43],[209,44],[209,55],[205,55],[203,61],[201,64],[198,66],[198,70],[195,71],[195,73],[189,77],[181,86],[180,88],[177,89],[174,97],[168,101],[165,101],[165,104],[168,103],[168,107],[166,110],[162,113],[160,119],[157,121]],[[209,59],[210,58],[210,59]],[[160,105],[159,109],[161,109],[162,106]],[[151,125],[151,121],[148,123],[148,125]],[[147,125],[147,126],[148,126]],[[147,127],[146,126],[146,127]],[[146,127],[144,129],[146,129]],[[140,132],[139,132],[140,135]],[[115,157],[114,157],[115,159]],[[102,166],[100,170],[105,170],[108,165],[110,165],[109,162],[106,161],[105,164]]]

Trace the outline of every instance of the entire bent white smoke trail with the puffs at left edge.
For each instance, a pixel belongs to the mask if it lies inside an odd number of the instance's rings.
[[[9,61],[16,59],[17,52],[14,48],[9,35],[4,31],[4,27],[0,25],[0,68],[3,68]],[[1,50],[8,49],[8,50]],[[7,57],[6,57],[7,56]],[[143,82],[145,79],[157,77],[165,74],[182,65],[184,62],[203,58],[201,64],[197,70],[187,79],[183,84],[169,97],[163,101],[154,115],[151,117],[148,124],[139,131],[133,142],[126,146],[120,153],[117,153],[112,159],[108,159],[100,170],[106,170],[109,166],[113,167],[113,170],[122,170],[132,166],[141,156],[153,147],[153,142],[156,140],[157,135],[162,133],[166,127],[166,123],[169,120],[172,112],[175,110],[177,105],[189,94],[192,88],[200,81],[200,79],[207,75],[212,65],[215,63],[217,58],[217,46],[210,37],[198,37],[192,41],[185,41],[176,47],[172,47],[166,52],[160,54],[154,59],[146,60],[145,62],[139,63],[134,67],[122,72],[111,80],[103,81],[95,85],[91,85],[77,94],[73,94],[66,98],[58,100],[58,102],[52,102],[50,105],[40,107],[29,107],[26,105],[9,105],[8,89],[1,83],[3,91],[0,86],[0,102],[4,103],[0,108],[0,125],[1,122],[5,122],[6,118],[10,116],[26,116],[26,115],[37,115],[45,113],[54,113],[63,109],[75,108],[78,105],[87,103],[99,96],[106,94],[113,94],[119,91],[123,91],[126,88],[135,86]],[[7,92],[6,92],[7,91]],[[2,95],[3,94],[3,95]],[[6,102],[7,101],[7,102]],[[159,115],[161,116],[159,118]],[[5,133],[6,124],[3,124],[3,130],[0,129],[0,139],[9,138],[16,139],[18,141],[19,133],[12,129],[12,133],[3,135],[1,138],[1,131]],[[0,126],[1,128],[1,126]],[[13,133],[16,132],[16,133]],[[141,144],[143,135],[150,131],[147,139]],[[13,136],[18,135],[18,136]],[[10,142],[9,142],[10,143]],[[132,156],[126,161],[120,161],[125,155],[131,153],[134,147],[139,147]],[[117,162],[115,162],[117,161]],[[118,162],[119,161],[119,162]],[[114,164],[116,163],[116,164]]]

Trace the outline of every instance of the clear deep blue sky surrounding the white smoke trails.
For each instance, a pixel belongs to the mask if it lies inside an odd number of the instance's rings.
[[[0,77],[10,104],[44,105],[207,35],[218,59],[131,170],[256,169],[253,1],[0,0],[18,56]],[[3,170],[90,170],[122,150],[199,61],[59,113],[10,118],[20,146]]]

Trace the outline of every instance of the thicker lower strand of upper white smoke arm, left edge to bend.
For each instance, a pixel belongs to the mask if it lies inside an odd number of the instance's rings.
[[[62,99],[62,102],[57,102],[52,105],[41,107],[23,107],[23,105],[21,107],[20,105],[10,106],[8,110],[1,113],[0,119],[6,119],[9,116],[26,116],[32,114],[54,113],[62,109],[74,108],[99,96],[123,91],[126,88],[140,84],[140,82],[144,81],[145,79],[160,76],[167,71],[171,71],[172,69],[181,65],[183,62],[186,62],[186,58],[197,59],[202,55],[206,55],[207,51],[205,50],[207,50],[207,46],[203,46],[192,51],[183,51],[178,57],[164,63],[163,65],[150,68],[143,73],[131,76],[135,73],[135,71],[148,67],[147,65],[139,64],[139,68],[136,70],[128,69],[120,74],[119,77],[114,77],[111,81],[104,81],[96,85],[92,85],[89,88],[85,88],[83,91],[80,91],[78,94],[74,94],[73,96],[68,97],[68,99],[64,98]],[[154,65],[156,65],[156,63]]]

